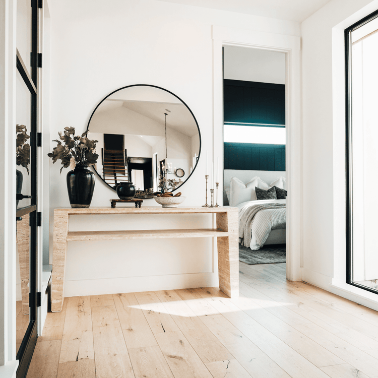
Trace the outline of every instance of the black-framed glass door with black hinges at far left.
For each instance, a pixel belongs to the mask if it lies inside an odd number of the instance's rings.
[[[16,222],[17,377],[26,372],[37,341],[37,83],[38,2],[17,2]]]

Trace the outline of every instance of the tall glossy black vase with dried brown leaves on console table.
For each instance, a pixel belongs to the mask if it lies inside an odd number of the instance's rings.
[[[57,145],[48,156],[55,163],[61,160],[63,168],[70,167],[72,170],[67,174],[67,189],[72,208],[88,208],[93,197],[95,175],[88,168],[97,162],[96,143],[89,140],[86,135],[89,130],[81,136],[75,136],[75,128],[65,128],[59,134],[60,140],[54,140]],[[64,144],[61,143],[64,142]]]

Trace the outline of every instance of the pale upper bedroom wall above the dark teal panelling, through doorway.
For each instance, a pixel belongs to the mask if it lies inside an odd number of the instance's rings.
[[[285,54],[239,46],[224,46],[224,78],[285,84]]]

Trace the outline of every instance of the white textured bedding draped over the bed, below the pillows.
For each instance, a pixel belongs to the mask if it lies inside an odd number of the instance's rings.
[[[250,249],[260,249],[269,236],[271,230],[286,228],[286,209],[264,209],[260,210],[254,217],[250,226],[250,243],[249,235],[244,235],[246,226],[245,217],[254,207],[264,204],[280,204],[285,205],[286,200],[263,200],[263,201],[247,201],[237,205],[239,209],[239,237],[242,237],[241,243],[249,246]],[[249,228],[248,228],[249,232]],[[244,242],[246,239],[246,243]]]

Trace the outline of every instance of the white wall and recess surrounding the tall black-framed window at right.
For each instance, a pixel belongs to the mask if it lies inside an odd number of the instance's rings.
[[[345,283],[343,31],[377,8],[332,0],[302,23],[302,276],[331,291]]]

